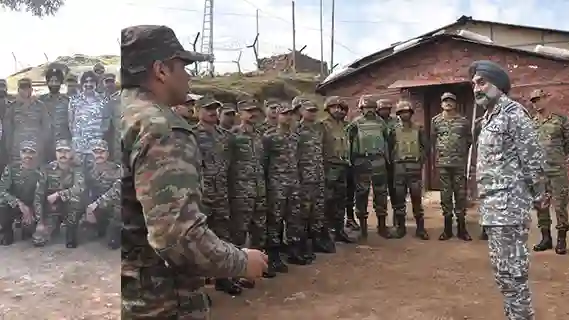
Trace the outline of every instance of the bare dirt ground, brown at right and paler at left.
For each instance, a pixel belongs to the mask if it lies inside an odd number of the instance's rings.
[[[212,292],[214,319],[503,319],[486,243],[436,240],[438,205],[426,209],[432,240],[372,233],[366,244],[339,245],[338,253],[261,280],[240,297]],[[478,235],[476,215],[469,220]],[[120,318],[118,252],[99,243],[72,251],[20,243],[0,248],[0,257],[0,319]],[[536,319],[569,319],[569,256],[533,254],[531,271]]]

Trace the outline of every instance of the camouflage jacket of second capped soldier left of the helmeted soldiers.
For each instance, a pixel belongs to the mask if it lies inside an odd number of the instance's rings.
[[[263,137],[265,176],[268,181],[287,184],[298,182],[298,141],[294,127],[279,127]]]

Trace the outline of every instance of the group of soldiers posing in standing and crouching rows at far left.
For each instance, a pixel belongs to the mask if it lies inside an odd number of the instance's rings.
[[[16,96],[0,80],[2,167],[0,244],[22,239],[44,246],[65,225],[68,248],[78,245],[82,219],[120,247],[120,119],[115,75],[101,64],[77,76],[53,63],[45,70],[49,93],[33,95],[18,81]],[[61,93],[66,83],[67,93]]]

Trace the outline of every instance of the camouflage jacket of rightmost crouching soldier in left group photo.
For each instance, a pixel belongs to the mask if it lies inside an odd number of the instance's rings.
[[[122,173],[121,166],[112,161],[89,168],[85,177],[86,187],[97,208],[110,209],[120,204]]]

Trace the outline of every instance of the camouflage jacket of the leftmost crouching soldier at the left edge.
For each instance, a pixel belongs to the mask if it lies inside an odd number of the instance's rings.
[[[43,190],[38,188],[41,172],[38,168],[27,169],[20,164],[8,165],[0,178],[0,206],[18,208],[18,201],[34,206],[36,217],[41,215],[41,207],[36,206],[44,197]]]

